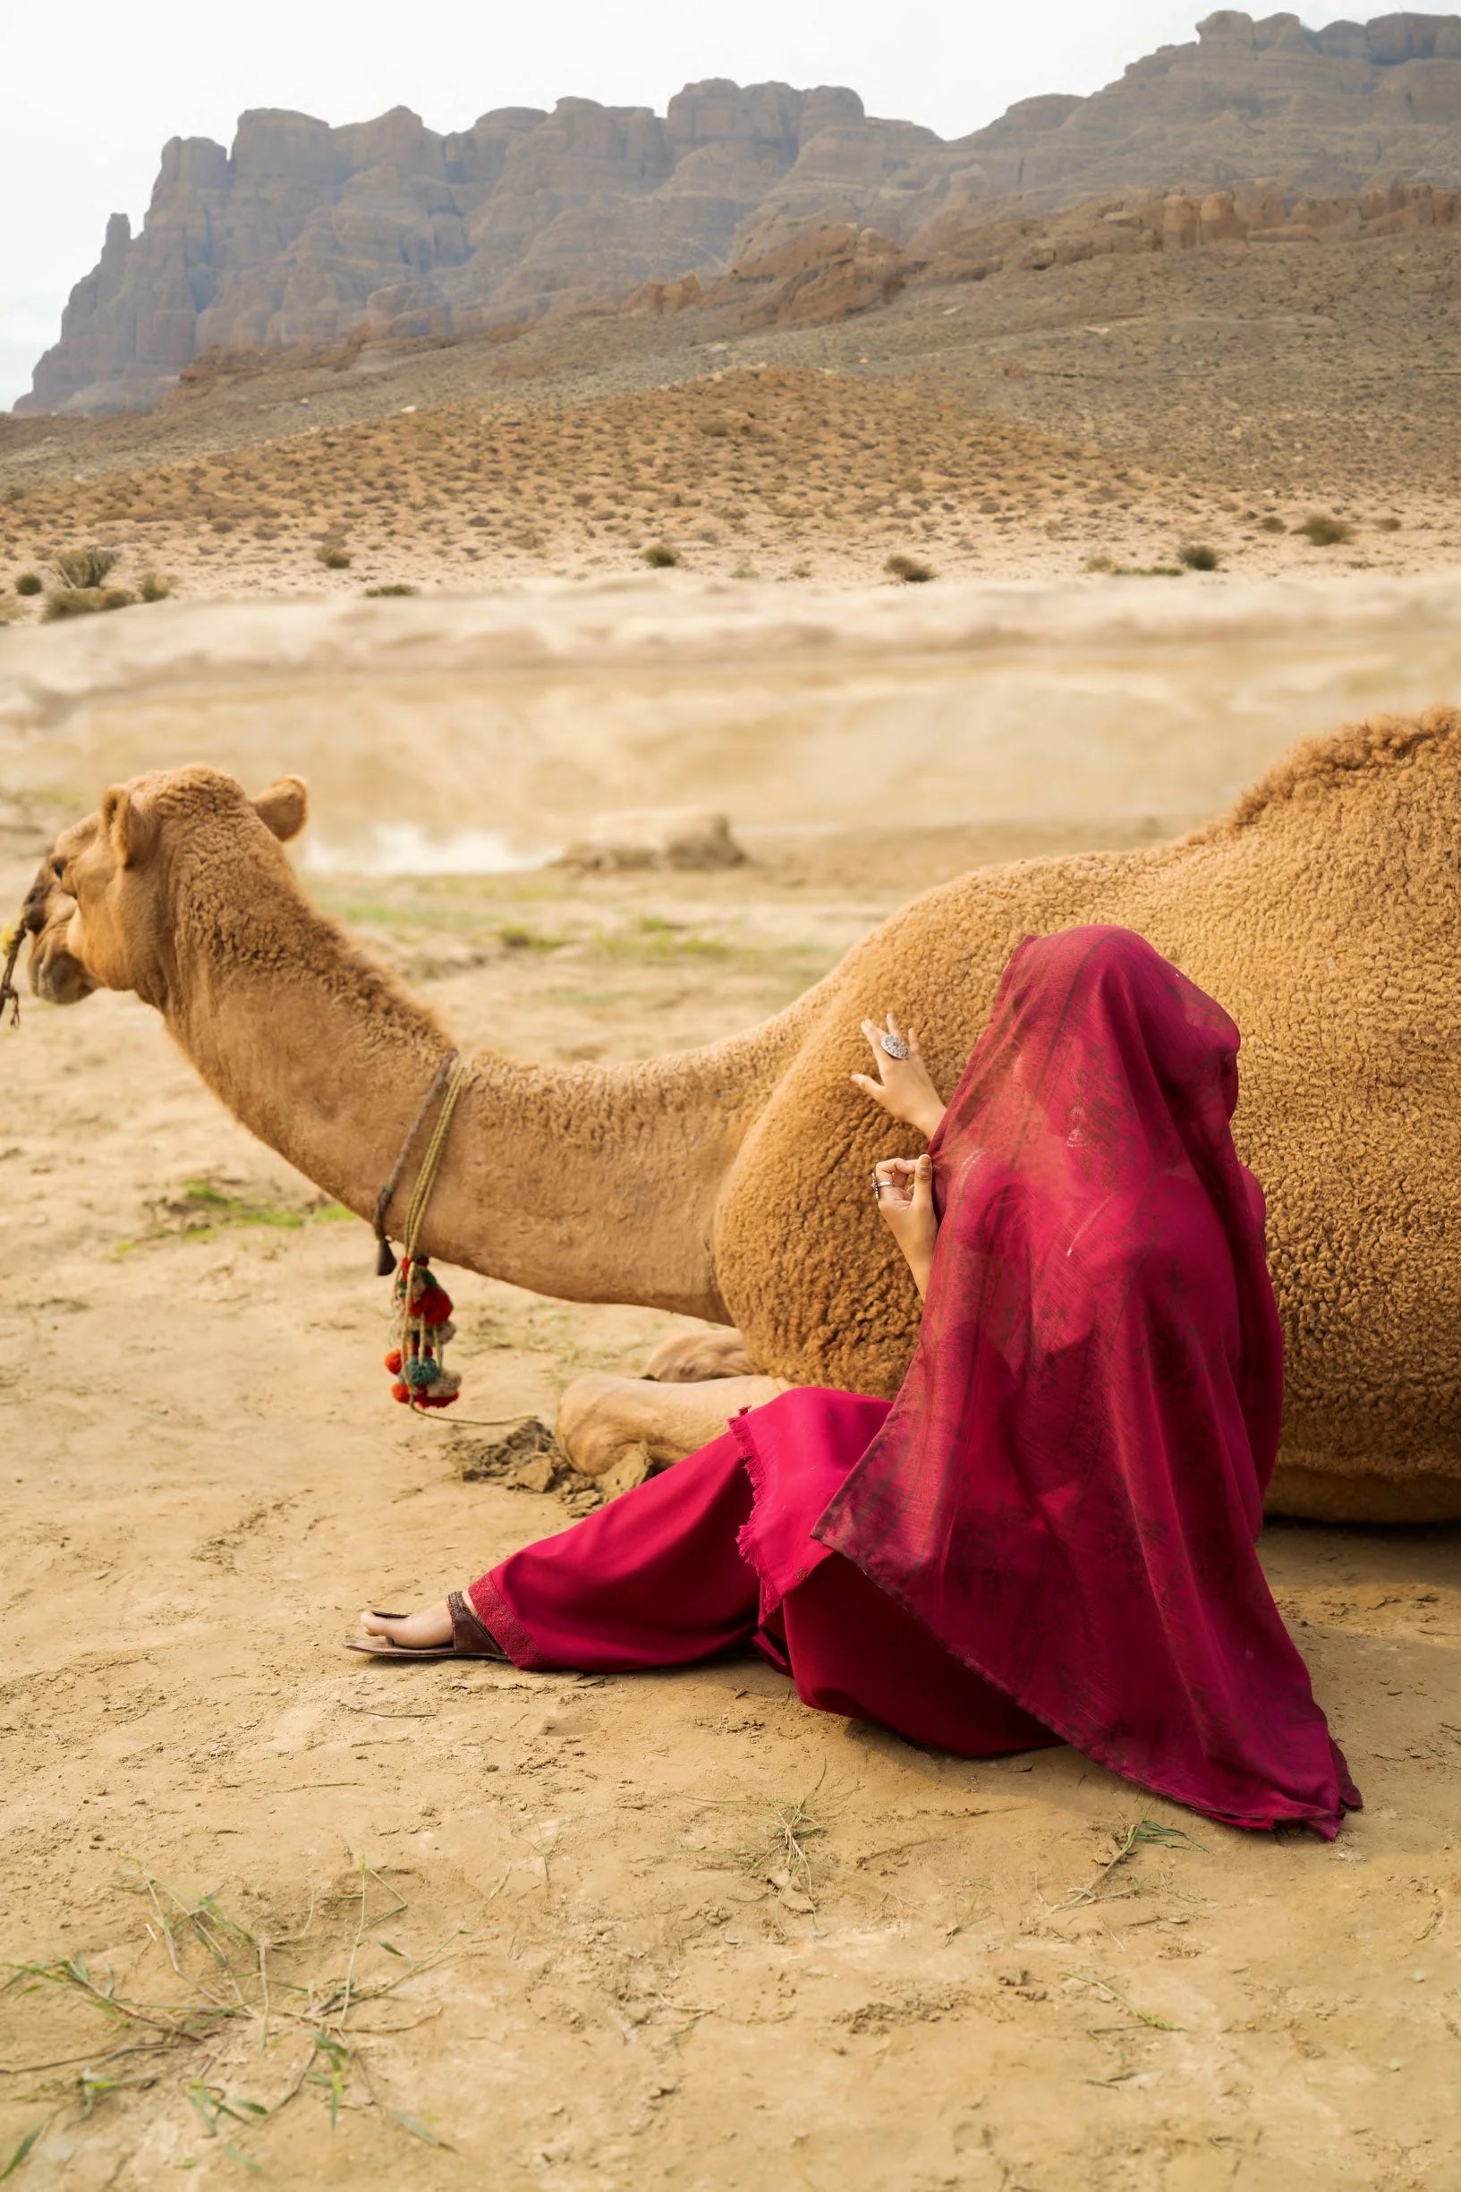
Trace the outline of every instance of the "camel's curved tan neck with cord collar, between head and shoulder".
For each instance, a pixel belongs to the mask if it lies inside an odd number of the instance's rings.
[[[164,1017],[204,1081],[368,1219],[449,1050],[442,1028],[285,872],[234,918],[180,918],[173,951]],[[539,1293],[723,1315],[714,1203],[773,1081],[758,1052],[749,1037],[633,1068],[475,1054],[421,1247]],[[396,1243],[416,1160],[390,1208]]]

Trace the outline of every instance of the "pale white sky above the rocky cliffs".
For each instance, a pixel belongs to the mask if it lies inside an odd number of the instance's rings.
[[[243,107],[329,123],[414,107],[462,129],[565,94],[664,105],[697,77],[850,83],[870,114],[962,136],[1034,92],[1093,92],[1189,39],[1211,0],[0,0],[0,406],[55,342],[110,213],[140,228],[171,136]],[[1268,13],[1259,7],[1257,13]],[[1310,9],[1310,24],[1341,7]]]

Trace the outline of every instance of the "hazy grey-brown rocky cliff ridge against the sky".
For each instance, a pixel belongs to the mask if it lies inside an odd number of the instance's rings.
[[[1461,184],[1461,15],[1308,31],[1222,9],[1091,99],[1025,99],[953,142],[784,83],[692,83],[664,116],[499,107],[449,136],[405,107],[344,129],[254,112],[230,153],[173,138],[140,235],[112,217],[18,408],[145,408],[206,349],[482,333],[817,230],[924,250],[1113,193],[1397,182]]]

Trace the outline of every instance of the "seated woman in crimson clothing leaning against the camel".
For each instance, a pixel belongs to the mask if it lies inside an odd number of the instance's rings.
[[[1281,1339],[1238,1028],[1148,943],[1025,938],[874,1192],[924,1317],[896,1401],[793,1390],[359,1651],[679,1666],[753,1644],[821,1712],[964,1758],[1073,1743],[1233,1826],[1360,1797],[1257,1563]],[[887,1063],[885,1063],[887,1061]],[[896,1061],[896,1063],[891,1063]]]

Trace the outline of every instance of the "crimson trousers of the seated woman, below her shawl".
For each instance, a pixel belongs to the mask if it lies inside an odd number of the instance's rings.
[[[767,1607],[736,1543],[749,1517],[745,1453],[727,1434],[515,1552],[469,1596],[524,1668],[624,1672],[753,1644],[793,1677],[802,1703],[962,1758],[1060,1740],[841,1554]]]

